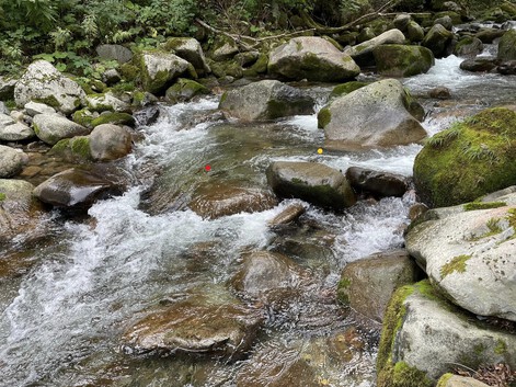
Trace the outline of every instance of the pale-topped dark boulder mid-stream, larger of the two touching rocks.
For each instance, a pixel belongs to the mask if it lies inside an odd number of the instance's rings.
[[[337,170],[316,162],[273,162],[267,182],[280,197],[298,197],[321,207],[342,210],[356,203],[346,178]]]

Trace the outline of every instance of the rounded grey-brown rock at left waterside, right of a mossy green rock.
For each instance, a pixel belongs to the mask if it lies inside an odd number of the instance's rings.
[[[117,125],[99,125],[92,130],[89,138],[93,160],[116,160],[127,156],[131,150],[130,134]]]

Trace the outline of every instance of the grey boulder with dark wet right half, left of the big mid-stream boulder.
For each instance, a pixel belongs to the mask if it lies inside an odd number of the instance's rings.
[[[276,80],[253,82],[226,92],[219,109],[242,121],[265,121],[313,113],[313,99]]]

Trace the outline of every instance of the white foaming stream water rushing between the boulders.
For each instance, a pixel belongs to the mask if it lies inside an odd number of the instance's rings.
[[[516,100],[514,77],[466,73],[459,62],[440,59],[427,75],[404,80],[427,111],[431,135],[485,106]],[[436,86],[448,87],[451,100],[427,99]],[[331,88],[308,90],[322,105]],[[309,206],[299,227],[282,232],[267,220],[291,201],[215,220],[185,204],[203,184],[264,186],[264,171],[275,160],[409,177],[421,146],[318,155],[323,135],[316,115],[241,125],[221,119],[217,104],[213,96],[163,106],[158,123],[139,128],[144,139],[123,166],[138,182],[123,196],[95,204],[89,212],[94,221],[50,219],[54,242],[25,252],[33,261],[25,272],[0,278],[0,386],[232,386],[241,375],[271,377],[277,364],[300,360],[321,385],[375,385],[379,327],[336,305],[334,289],[347,262],[402,246],[413,193],[363,201],[343,215]],[[0,249],[7,254],[21,246]],[[302,296],[267,311],[246,358],[124,353],[121,337],[145,310],[192,292],[228,297],[241,254],[264,249],[294,258],[313,281]],[[342,335],[359,345],[339,349]]]

